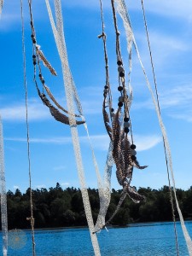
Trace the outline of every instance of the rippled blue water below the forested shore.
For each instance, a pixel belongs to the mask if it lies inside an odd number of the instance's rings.
[[[192,222],[186,222],[192,237]],[[31,233],[25,230],[26,246],[19,250],[9,248],[8,256],[32,255]],[[177,223],[180,256],[188,251],[183,231]],[[127,228],[102,230],[97,235],[102,256],[172,256],[177,255],[172,223],[131,224]],[[37,256],[91,256],[94,255],[88,229],[36,230]],[[0,247],[2,241],[0,241]],[[3,255],[0,254],[0,255]]]

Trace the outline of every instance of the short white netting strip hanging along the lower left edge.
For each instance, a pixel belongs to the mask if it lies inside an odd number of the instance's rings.
[[[0,194],[2,214],[3,256],[8,253],[7,194],[4,174],[3,125],[0,118]]]

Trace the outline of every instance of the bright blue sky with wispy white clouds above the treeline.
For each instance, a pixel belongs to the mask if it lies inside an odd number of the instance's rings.
[[[0,113],[3,119],[5,172],[7,189],[28,187],[26,150],[25,91],[23,85],[20,1],[4,1],[0,20],[1,87]],[[50,1],[51,2],[51,1]],[[69,64],[84,108],[96,159],[103,172],[108,153],[108,135],[102,121],[102,90],[105,83],[102,32],[99,1],[73,0],[63,2],[63,17]],[[66,3],[65,3],[66,2]],[[110,82],[116,98],[117,67],[115,38],[110,1],[103,1]],[[148,44],[143,25],[140,1],[126,1],[137,45],[152,86],[153,79],[148,55]],[[55,98],[66,107],[62,83],[61,64],[49,25],[43,0],[33,0],[34,24],[38,44],[55,67],[58,76],[51,77],[44,68],[44,79]],[[160,93],[161,113],[172,148],[173,168],[177,188],[192,185],[192,3],[184,1],[145,1],[148,32],[154,56],[154,68]],[[49,109],[40,102],[32,82],[32,44],[27,5],[24,6],[26,33],[26,76],[32,160],[32,187],[49,188],[61,183],[79,187],[70,129],[53,119]],[[128,63],[125,32],[120,18],[119,31],[125,65]],[[153,102],[143,78],[142,69],[133,54],[132,87],[134,99],[131,107],[133,135],[137,144],[137,159],[148,168],[135,170],[132,184],[159,189],[167,184],[166,165],[160,127]],[[97,187],[90,147],[83,127],[79,127],[86,183]],[[119,189],[113,168],[112,187]]]

